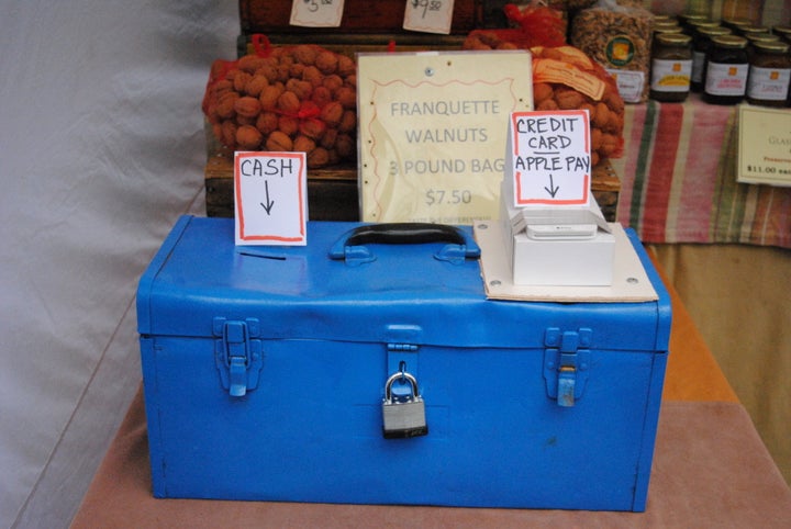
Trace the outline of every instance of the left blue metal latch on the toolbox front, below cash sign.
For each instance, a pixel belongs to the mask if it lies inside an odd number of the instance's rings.
[[[233,320],[215,317],[213,322],[214,359],[220,381],[229,395],[242,397],[258,385],[264,359],[260,324],[256,318]]]

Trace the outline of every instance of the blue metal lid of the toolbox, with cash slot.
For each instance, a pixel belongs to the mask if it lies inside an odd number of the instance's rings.
[[[443,258],[447,241],[338,243],[358,226],[311,222],[308,246],[235,246],[232,218],[183,216],[141,278],[138,330],[209,337],[218,317],[256,318],[265,339],[528,348],[547,328],[579,327],[595,329],[592,348],[667,349],[669,296],[633,233],[658,301],[492,301],[470,228],[458,228],[461,257]]]

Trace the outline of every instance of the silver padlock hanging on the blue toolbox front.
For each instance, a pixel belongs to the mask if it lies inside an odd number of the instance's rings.
[[[412,395],[405,401],[394,399],[392,385],[397,380],[405,380],[412,386]],[[382,434],[385,439],[402,439],[428,434],[425,420],[425,403],[417,389],[417,380],[405,371],[390,375],[385,383],[382,401]]]

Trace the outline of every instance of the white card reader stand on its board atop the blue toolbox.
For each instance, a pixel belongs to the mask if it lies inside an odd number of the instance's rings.
[[[656,301],[630,235],[589,209],[510,207],[474,223],[487,299],[555,303]]]

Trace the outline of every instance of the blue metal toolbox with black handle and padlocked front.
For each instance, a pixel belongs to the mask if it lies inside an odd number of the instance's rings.
[[[140,281],[154,495],[644,510],[670,302],[488,300],[471,229],[179,220]]]

